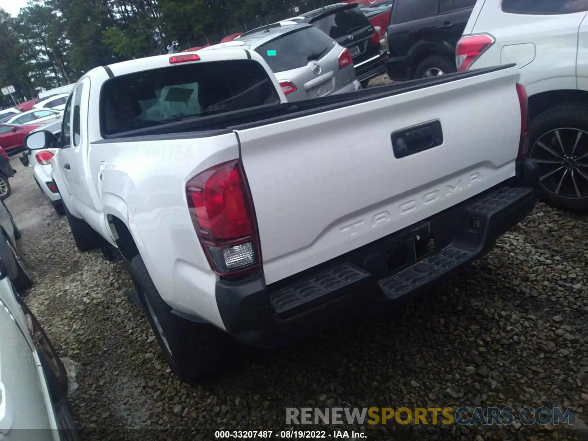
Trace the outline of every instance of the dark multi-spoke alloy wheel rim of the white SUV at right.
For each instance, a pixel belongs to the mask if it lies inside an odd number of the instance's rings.
[[[539,165],[539,181],[566,199],[588,198],[588,132],[553,129],[537,138],[529,157]]]

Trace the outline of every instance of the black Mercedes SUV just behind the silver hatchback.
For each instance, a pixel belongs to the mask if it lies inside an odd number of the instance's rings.
[[[295,20],[316,26],[348,48],[355,76],[363,87],[368,85],[370,78],[386,73],[386,52],[380,45],[380,35],[358,9],[358,4],[325,6],[301,14]]]

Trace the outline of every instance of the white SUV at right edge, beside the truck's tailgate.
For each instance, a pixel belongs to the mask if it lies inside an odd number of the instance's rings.
[[[540,196],[588,211],[588,0],[477,0],[458,71],[515,63],[529,95]]]

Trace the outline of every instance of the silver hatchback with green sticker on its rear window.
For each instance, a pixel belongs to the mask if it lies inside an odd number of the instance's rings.
[[[225,46],[241,46],[258,52],[290,102],[361,88],[348,49],[312,25],[276,23],[201,50]]]

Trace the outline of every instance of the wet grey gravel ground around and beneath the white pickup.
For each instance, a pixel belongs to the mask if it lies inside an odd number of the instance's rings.
[[[218,429],[280,430],[285,408],[304,406],[547,405],[588,417],[586,219],[538,205],[486,258],[409,302],[400,319],[349,323],[280,350],[249,349],[231,372],[189,386],[170,372],[141,310],[123,295],[131,288],[126,264],[79,253],[65,218],[28,169],[12,163],[18,174],[6,205],[35,278],[26,302],[78,367],[71,400],[82,439],[212,440]],[[355,429],[372,440],[583,436],[582,427],[562,425]]]

